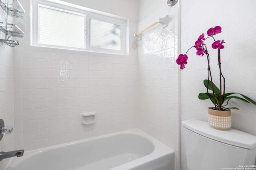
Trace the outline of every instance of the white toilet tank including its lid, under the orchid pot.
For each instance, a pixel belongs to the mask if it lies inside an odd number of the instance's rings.
[[[189,170],[256,168],[256,137],[236,129],[220,131],[208,122],[182,122]]]

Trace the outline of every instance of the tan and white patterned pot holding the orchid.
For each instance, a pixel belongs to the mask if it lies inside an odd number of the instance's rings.
[[[231,111],[214,110],[214,107],[208,107],[208,123],[209,125],[218,130],[228,130],[231,128]]]

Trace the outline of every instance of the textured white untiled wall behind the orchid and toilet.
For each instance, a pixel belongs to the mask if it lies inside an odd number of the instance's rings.
[[[201,33],[216,25],[222,26],[218,39],[224,39],[221,50],[222,72],[226,78],[226,92],[238,92],[256,100],[256,1],[247,0],[182,0],[181,5],[181,53],[194,45]],[[203,80],[207,78],[207,61],[204,57],[188,53],[186,68],[181,71],[181,114],[182,120],[199,119],[207,121],[209,101],[198,99],[204,92]],[[216,64],[217,53],[211,53]],[[213,67],[213,66],[212,66]],[[256,135],[256,106],[240,101],[230,101],[232,127]],[[186,168],[184,137],[182,136],[182,169]]]

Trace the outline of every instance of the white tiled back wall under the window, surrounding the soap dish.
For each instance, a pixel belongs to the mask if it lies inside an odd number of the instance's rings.
[[[30,46],[29,1],[25,37],[14,53],[14,148],[39,149],[137,127],[137,51],[129,56]],[[136,24],[130,23],[132,35]],[[81,113],[96,111],[83,125]]]

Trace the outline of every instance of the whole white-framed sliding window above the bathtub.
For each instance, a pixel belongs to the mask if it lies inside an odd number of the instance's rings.
[[[57,2],[32,1],[32,45],[125,54],[126,20]]]

